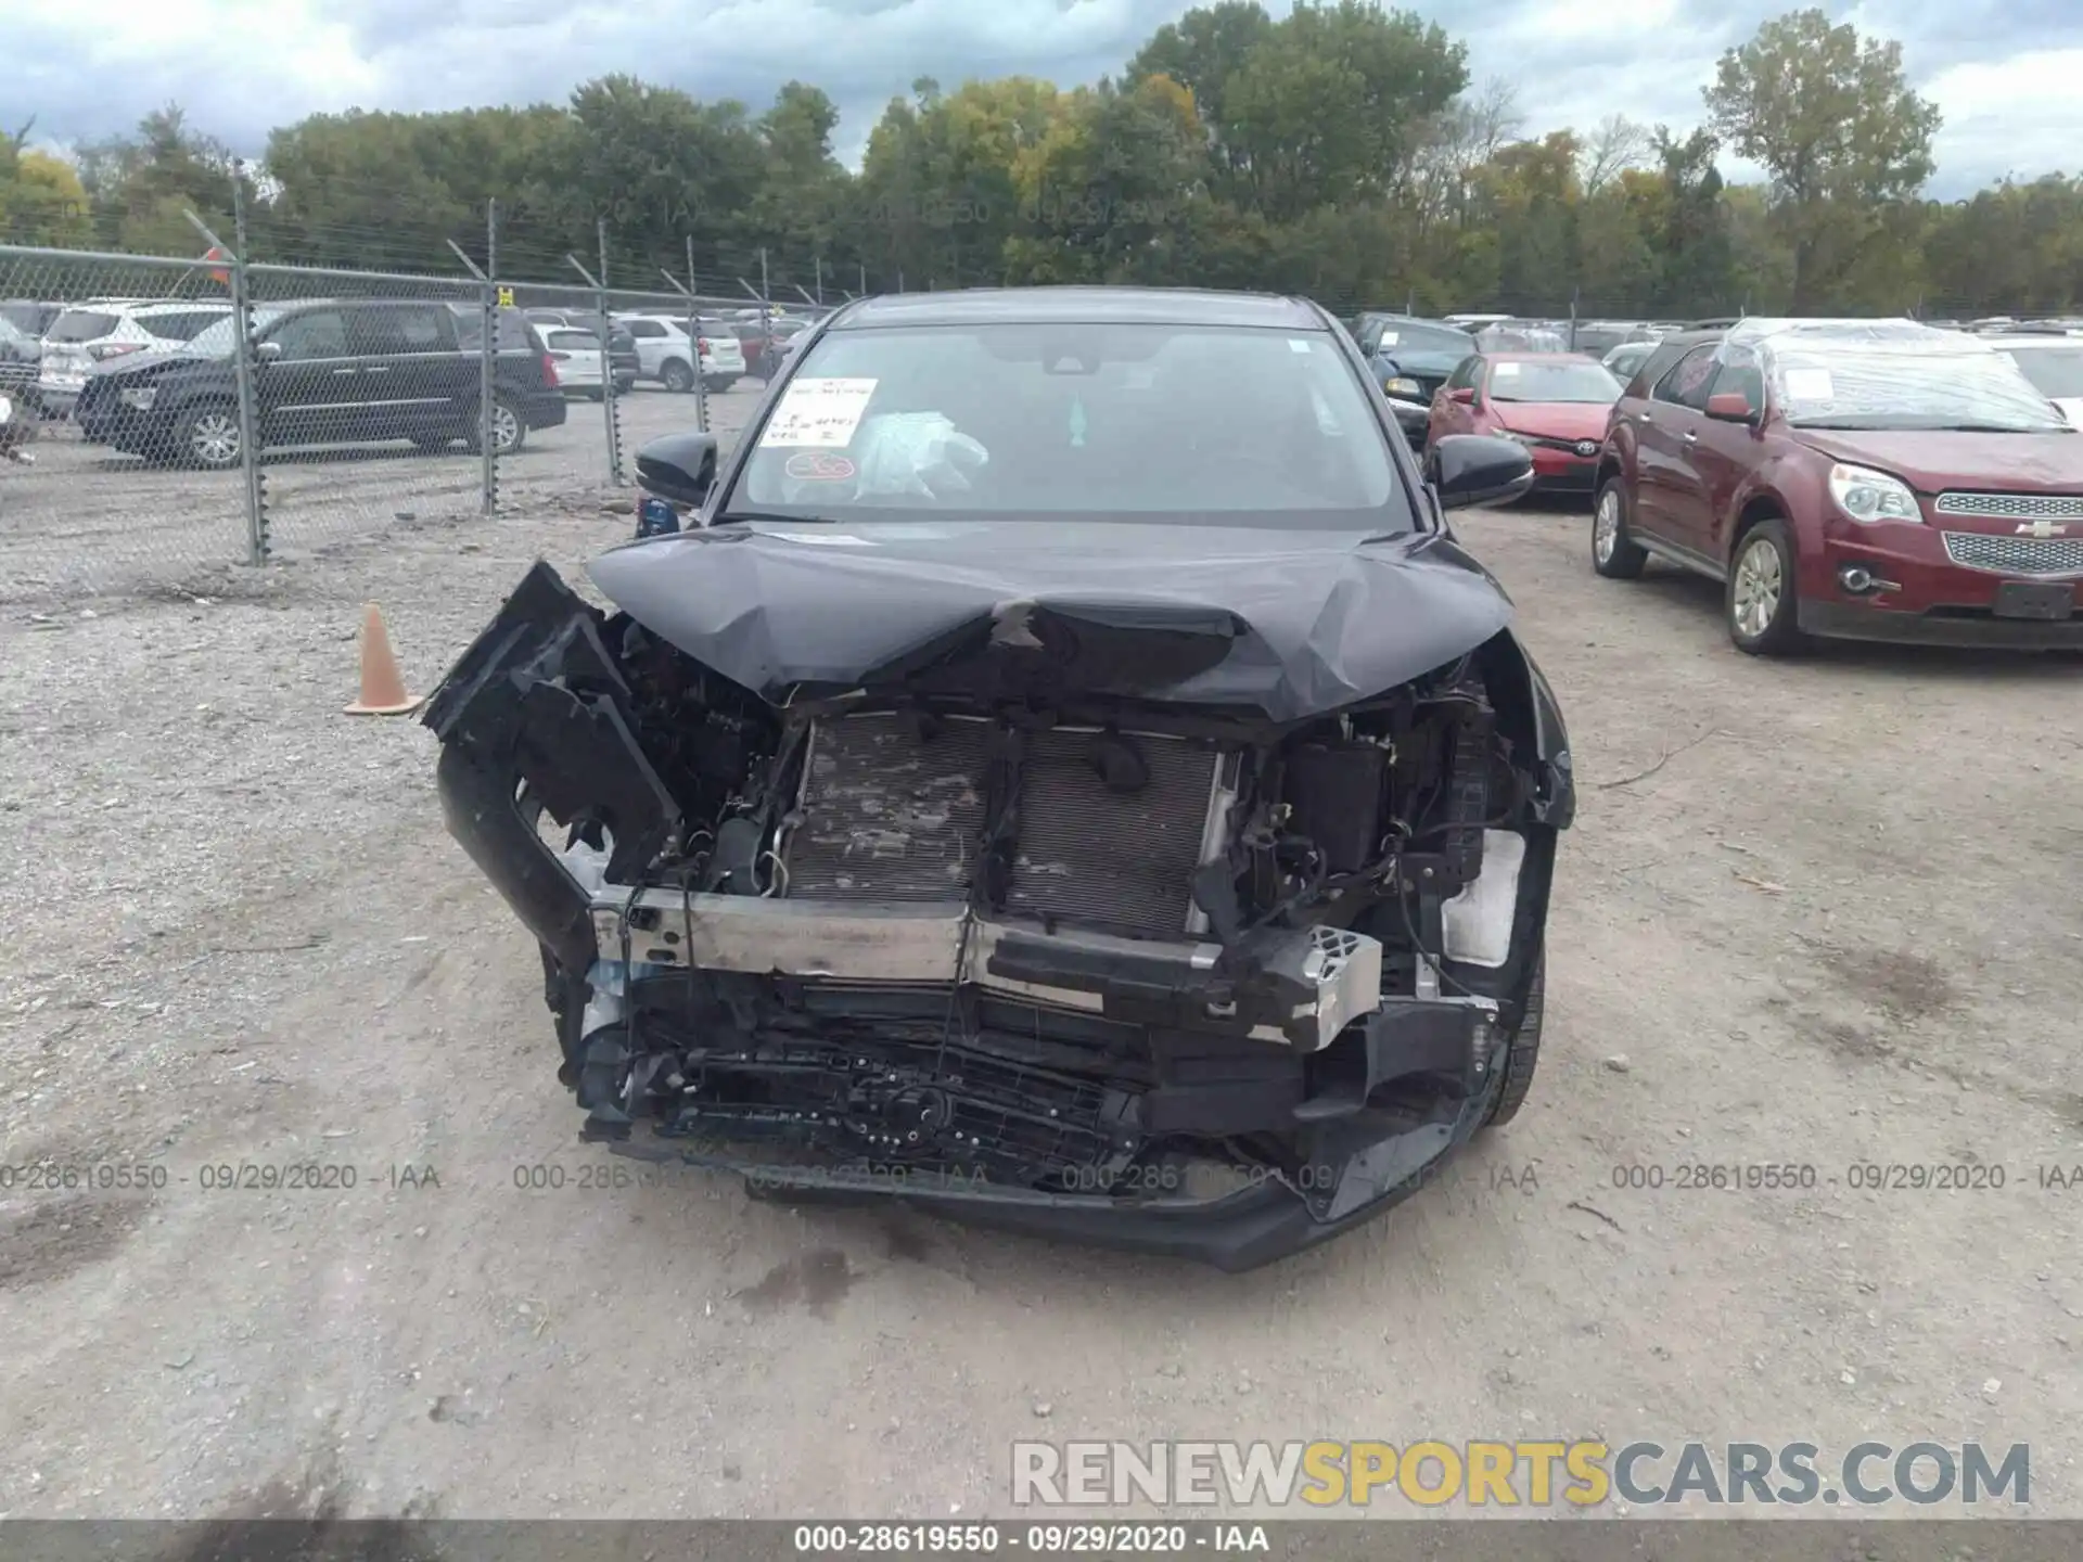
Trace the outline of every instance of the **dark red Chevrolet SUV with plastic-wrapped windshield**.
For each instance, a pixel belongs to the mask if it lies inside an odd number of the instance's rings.
[[[1729,637],[2083,648],[2083,433],[1914,321],[1741,321],[1646,371],[1600,452],[1591,566],[1725,583]]]

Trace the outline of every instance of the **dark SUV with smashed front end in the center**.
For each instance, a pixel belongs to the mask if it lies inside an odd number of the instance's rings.
[[[435,691],[583,1137],[1250,1268],[1523,1104],[1568,739],[1312,304],[875,298]]]

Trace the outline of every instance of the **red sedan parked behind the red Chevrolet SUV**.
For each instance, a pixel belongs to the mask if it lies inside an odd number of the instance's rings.
[[[1500,433],[1533,456],[1533,492],[1591,494],[1621,381],[1568,352],[1477,352],[1439,387],[1427,448],[1450,433]]]

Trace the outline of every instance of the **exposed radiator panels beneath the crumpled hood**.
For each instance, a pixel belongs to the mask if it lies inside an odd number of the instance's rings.
[[[804,900],[969,893],[985,825],[992,723],[869,712],[810,733],[800,821],[781,856]],[[1102,758],[1114,785],[1102,775]],[[1029,733],[1006,912],[1179,939],[1191,918],[1221,754],[1181,737]],[[1121,789],[1116,789],[1121,787]]]

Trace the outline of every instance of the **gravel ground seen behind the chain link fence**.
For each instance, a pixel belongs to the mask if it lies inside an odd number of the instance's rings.
[[[710,396],[710,425],[735,433],[764,383],[742,379]],[[617,402],[623,471],[660,433],[694,427],[694,398],[639,385]],[[244,473],[148,467],[46,423],[33,467],[0,462],[0,602],[54,596],[165,591],[198,566],[246,558]],[[479,512],[477,456],[454,446],[423,456],[406,444],[269,454],[265,469],[271,552],[302,558],[365,541],[421,519]],[[556,508],[608,481],[608,427],[598,402],[573,400],[564,423],[535,429],[500,462],[500,504]]]

